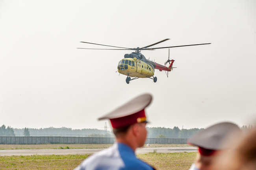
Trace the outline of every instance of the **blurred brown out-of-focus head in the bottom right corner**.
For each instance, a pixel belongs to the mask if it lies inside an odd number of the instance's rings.
[[[236,141],[229,152],[219,157],[216,170],[256,170],[256,127]]]

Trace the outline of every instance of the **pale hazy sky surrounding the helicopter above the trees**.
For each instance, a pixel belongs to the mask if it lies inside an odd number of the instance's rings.
[[[165,38],[153,47],[212,44],[171,48],[168,78],[156,70],[156,83],[130,84],[116,71],[133,51],[76,49]],[[142,53],[168,58],[168,49]],[[0,0],[0,126],[104,129],[98,117],[141,93],[154,97],[148,126],[251,124],[255,66],[255,0]]]

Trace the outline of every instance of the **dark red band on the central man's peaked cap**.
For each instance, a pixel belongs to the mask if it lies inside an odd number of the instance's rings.
[[[143,109],[132,115],[110,119],[110,122],[113,128],[122,128],[125,126],[132,125],[134,123],[137,123],[138,118],[144,118],[144,117],[146,116],[145,116],[145,110]]]

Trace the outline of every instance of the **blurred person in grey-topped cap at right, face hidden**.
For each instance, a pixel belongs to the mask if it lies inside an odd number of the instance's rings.
[[[234,137],[242,135],[240,128],[230,122],[210,126],[193,135],[188,144],[198,146],[197,159],[189,170],[212,170],[216,158],[230,148]]]

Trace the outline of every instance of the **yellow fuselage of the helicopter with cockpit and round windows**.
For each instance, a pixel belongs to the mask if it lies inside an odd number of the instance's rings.
[[[148,78],[154,76],[154,68],[137,58],[123,58],[117,66],[118,72],[130,77]]]

